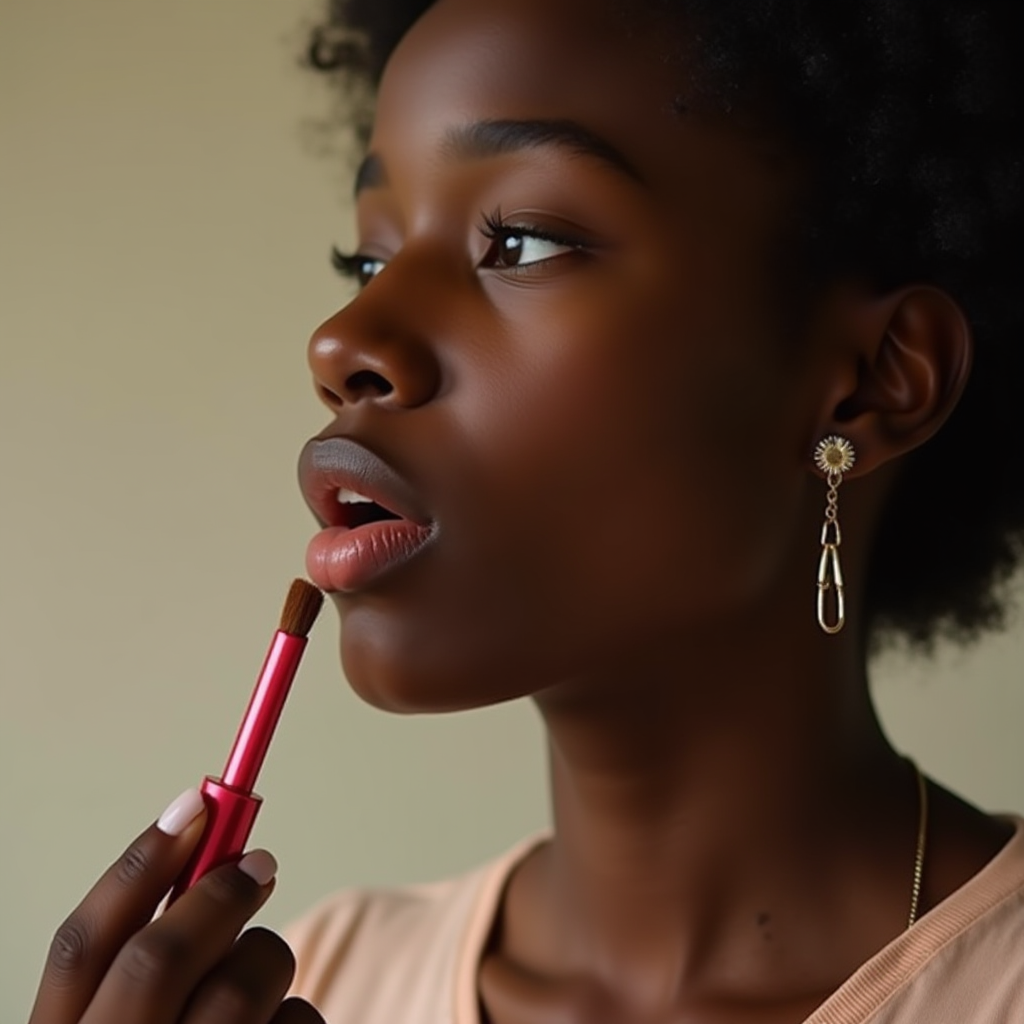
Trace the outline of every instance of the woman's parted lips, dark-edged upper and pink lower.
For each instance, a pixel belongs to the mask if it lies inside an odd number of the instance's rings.
[[[351,438],[308,441],[299,456],[299,486],[324,527],[306,549],[306,572],[321,590],[361,590],[406,564],[437,534],[409,483]],[[348,525],[337,501],[342,489],[355,490],[399,518]]]

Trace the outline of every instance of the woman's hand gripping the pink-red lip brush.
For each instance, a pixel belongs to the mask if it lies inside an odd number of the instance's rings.
[[[104,872],[57,929],[29,1024],[324,1024],[282,1001],[295,971],[283,939],[241,937],[273,891],[264,851],[211,871],[153,920],[205,821],[182,794]]]

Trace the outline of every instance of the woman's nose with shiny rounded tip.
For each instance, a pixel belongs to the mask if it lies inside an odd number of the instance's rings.
[[[360,402],[416,409],[440,387],[441,369],[429,341],[367,293],[313,332],[309,368],[321,399],[334,412]]]

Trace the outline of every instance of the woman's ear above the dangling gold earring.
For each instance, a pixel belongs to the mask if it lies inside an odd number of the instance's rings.
[[[862,298],[847,324],[819,436],[849,437],[859,475],[942,426],[967,384],[973,340],[957,303],[931,286]]]

